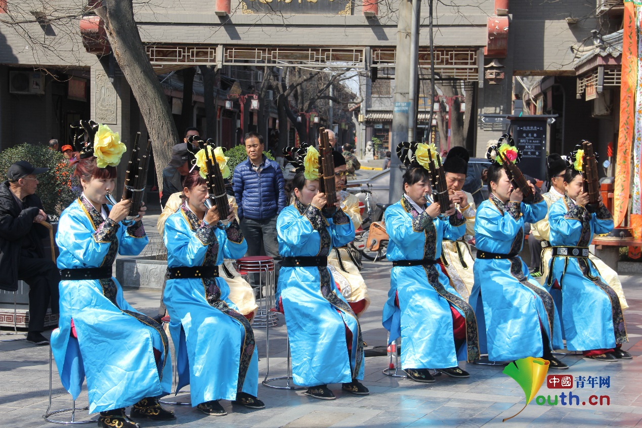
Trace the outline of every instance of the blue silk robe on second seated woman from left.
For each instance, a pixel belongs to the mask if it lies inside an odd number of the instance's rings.
[[[183,203],[165,223],[169,268],[217,266],[247,251],[236,220],[227,230],[200,221]],[[223,272],[221,271],[221,274]],[[192,406],[238,392],[257,395],[259,359],[248,320],[228,298],[221,277],[169,279],[163,302],[176,349],[178,386],[189,384]]]

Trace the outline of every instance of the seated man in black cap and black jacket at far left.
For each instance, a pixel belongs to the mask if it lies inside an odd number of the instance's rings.
[[[49,232],[39,223],[47,215],[35,194],[36,175],[47,170],[20,160],[9,167],[8,180],[0,184],[0,289],[16,291],[18,280],[29,284],[27,341],[35,345],[49,343],[41,334],[49,300],[51,313],[58,313],[60,271],[44,255],[42,239]]]

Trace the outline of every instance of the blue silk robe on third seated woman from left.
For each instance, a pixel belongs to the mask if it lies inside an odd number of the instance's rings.
[[[319,209],[299,200],[281,211],[277,232],[283,257],[327,256],[334,246],[354,239],[354,225],[342,210],[325,218]],[[328,268],[282,266],[279,296],[288,325],[295,384],[318,386],[363,379],[361,327]],[[346,352],[346,327],[352,334],[350,354]]]

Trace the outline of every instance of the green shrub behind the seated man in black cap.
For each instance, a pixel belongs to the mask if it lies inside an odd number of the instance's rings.
[[[42,206],[47,214],[60,215],[75,196],[71,191],[71,177],[74,167],[60,151],[49,150],[47,146],[32,146],[20,144],[0,151],[0,177],[6,180],[6,173],[12,164],[26,160],[35,167],[48,167],[49,171],[38,176],[36,194],[42,200]]]

